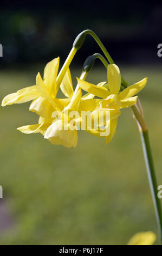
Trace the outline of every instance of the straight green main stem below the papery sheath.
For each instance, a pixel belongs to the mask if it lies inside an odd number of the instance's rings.
[[[157,218],[157,223],[158,223],[158,228],[160,233],[160,240],[162,243],[162,212],[161,212],[160,199],[158,198],[158,189],[157,189],[158,186],[157,186],[157,180],[155,177],[155,171],[153,166],[151,147],[150,147],[150,142],[148,138],[148,130],[140,131],[140,135],[141,135],[142,149],[144,152],[144,158],[146,163],[148,181],[150,183],[155,215]]]

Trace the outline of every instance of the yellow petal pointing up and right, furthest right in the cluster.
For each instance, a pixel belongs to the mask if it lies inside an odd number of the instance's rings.
[[[137,83],[132,84],[132,86],[127,87],[119,94],[119,99],[125,100],[129,97],[134,96],[135,94],[138,94],[140,90],[142,90],[146,86],[146,83],[147,77]]]

